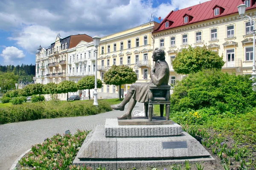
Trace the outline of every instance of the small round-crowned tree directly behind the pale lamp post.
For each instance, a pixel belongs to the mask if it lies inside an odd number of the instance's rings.
[[[86,76],[80,79],[77,83],[78,90],[89,90],[89,100],[90,100],[90,89],[93,89],[95,87],[95,76]],[[97,79],[97,88],[102,87],[102,81],[100,79]]]

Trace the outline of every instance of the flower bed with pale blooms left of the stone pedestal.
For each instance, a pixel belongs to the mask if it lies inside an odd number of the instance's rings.
[[[77,130],[74,135],[56,134],[47,138],[42,144],[32,146],[31,152],[20,159],[22,169],[35,170],[91,170],[90,167],[72,165],[89,131]]]

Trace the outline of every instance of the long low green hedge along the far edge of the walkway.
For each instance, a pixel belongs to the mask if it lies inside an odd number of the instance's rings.
[[[36,119],[87,116],[112,111],[111,104],[105,100],[99,100],[98,103],[99,106],[96,107],[93,105],[93,100],[75,102],[54,100],[12,105],[6,108],[0,108],[0,124]]]

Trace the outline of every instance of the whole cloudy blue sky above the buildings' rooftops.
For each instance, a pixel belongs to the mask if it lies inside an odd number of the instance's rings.
[[[35,64],[58,33],[105,36],[208,0],[1,0],[0,65]]]

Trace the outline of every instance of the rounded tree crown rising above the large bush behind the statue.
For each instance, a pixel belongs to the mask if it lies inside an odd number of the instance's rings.
[[[177,74],[189,74],[202,71],[204,69],[221,69],[225,64],[223,55],[218,52],[203,47],[183,48],[172,60],[172,67]]]

